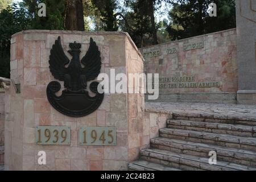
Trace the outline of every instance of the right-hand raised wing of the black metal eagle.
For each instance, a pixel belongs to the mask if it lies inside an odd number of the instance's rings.
[[[85,56],[82,57],[81,63],[84,65],[82,74],[86,76],[86,81],[94,80],[101,72],[101,53],[98,46],[90,38],[90,46]]]

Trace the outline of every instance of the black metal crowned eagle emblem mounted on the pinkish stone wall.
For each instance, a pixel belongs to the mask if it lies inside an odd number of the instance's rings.
[[[70,43],[72,55],[71,61],[65,55],[60,42],[60,36],[55,40],[49,56],[49,69],[54,78],[64,81],[64,89],[61,96],[56,96],[61,86],[57,81],[51,81],[47,85],[47,98],[50,104],[60,113],[71,117],[82,117],[95,111],[104,98],[104,93],[98,93],[98,82],[93,81],[89,88],[95,93],[90,97],[87,88],[87,82],[94,80],[100,74],[101,57],[98,46],[90,38],[90,46],[85,56],[80,56],[80,43]],[[82,67],[82,65],[84,67]]]

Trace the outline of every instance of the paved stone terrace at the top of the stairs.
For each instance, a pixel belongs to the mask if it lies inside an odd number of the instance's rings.
[[[146,111],[211,115],[219,119],[256,121],[256,105],[205,104],[189,102],[145,102]]]

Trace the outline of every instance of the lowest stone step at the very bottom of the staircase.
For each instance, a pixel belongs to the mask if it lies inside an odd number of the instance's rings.
[[[146,160],[135,160],[129,163],[129,169],[134,171],[180,171],[180,169],[151,163]]]

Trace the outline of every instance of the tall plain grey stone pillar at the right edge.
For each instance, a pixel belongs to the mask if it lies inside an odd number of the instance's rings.
[[[256,1],[237,0],[238,104],[256,104]]]

